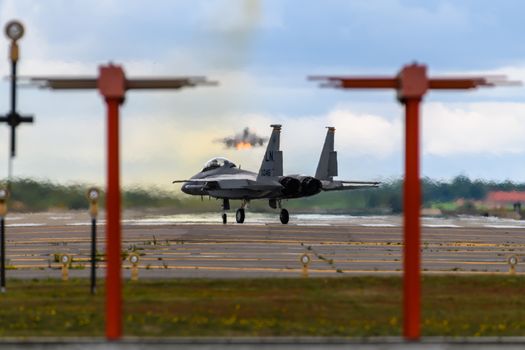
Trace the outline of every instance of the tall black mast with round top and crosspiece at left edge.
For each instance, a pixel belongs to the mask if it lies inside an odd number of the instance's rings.
[[[7,174],[8,184],[10,184],[13,175],[13,159],[16,156],[16,128],[21,123],[32,123],[33,117],[20,115],[16,111],[16,66],[19,58],[18,40],[24,35],[24,26],[18,21],[10,21],[5,26],[5,34],[9,39],[11,39],[11,46],[9,50],[9,59],[11,61],[11,109],[6,115],[0,116],[0,122],[7,123],[7,125],[11,128],[11,147],[9,152],[9,164]]]

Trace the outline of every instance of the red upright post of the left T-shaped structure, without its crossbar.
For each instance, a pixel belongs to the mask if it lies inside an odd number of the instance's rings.
[[[118,340],[122,336],[119,174],[119,105],[121,102],[120,98],[106,98],[108,108],[106,337],[108,340]]]

